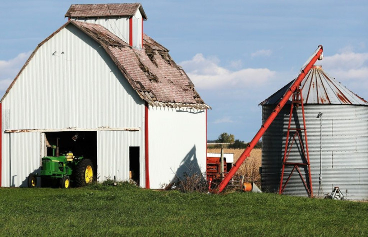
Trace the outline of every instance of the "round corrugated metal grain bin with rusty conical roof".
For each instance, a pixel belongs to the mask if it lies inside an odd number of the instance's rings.
[[[260,103],[262,123],[292,81]],[[301,82],[313,196],[323,198],[339,187],[345,198],[368,199],[368,103],[314,65]],[[262,137],[262,191],[278,192],[291,98]],[[294,109],[293,126],[302,124]],[[301,137],[302,144],[305,138]],[[289,161],[301,162],[300,146],[290,149]],[[285,167],[288,177],[292,167]],[[301,175],[308,176],[306,167]],[[283,179],[283,183],[285,182]],[[300,175],[293,173],[283,194],[308,196]]]

